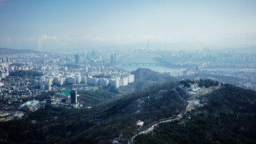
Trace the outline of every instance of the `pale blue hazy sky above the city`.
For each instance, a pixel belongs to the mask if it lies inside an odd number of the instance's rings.
[[[256,45],[256,1],[0,0],[0,47],[93,48],[147,39]]]

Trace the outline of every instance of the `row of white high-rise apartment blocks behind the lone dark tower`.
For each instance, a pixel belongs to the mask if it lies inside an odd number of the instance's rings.
[[[108,72],[105,76],[111,78],[97,78],[95,76],[84,75],[84,72],[69,73],[67,75],[42,76],[34,80],[36,87],[41,90],[51,90],[52,85],[61,86],[72,84],[73,88],[83,88],[87,84],[93,86],[111,86],[118,88],[134,82],[134,75],[128,72]]]

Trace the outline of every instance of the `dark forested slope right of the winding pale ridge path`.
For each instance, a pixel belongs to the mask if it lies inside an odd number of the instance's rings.
[[[159,124],[135,143],[256,143],[256,92],[225,84],[200,97],[204,106]]]

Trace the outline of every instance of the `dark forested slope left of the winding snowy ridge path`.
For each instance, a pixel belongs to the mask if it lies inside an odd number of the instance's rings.
[[[35,111],[21,120],[0,123],[0,138],[14,143],[47,143],[47,139],[52,143],[111,143],[120,134],[128,138],[138,130],[138,120],[148,125],[186,108],[186,102],[172,90],[178,84],[154,85],[91,109]]]

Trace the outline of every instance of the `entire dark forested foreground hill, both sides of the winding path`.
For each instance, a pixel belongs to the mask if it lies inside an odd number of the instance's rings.
[[[127,143],[135,132],[182,113],[179,120],[136,136],[135,143],[256,142],[255,91],[204,81],[211,86],[202,86],[202,92],[193,94],[193,86],[189,89],[182,83],[155,84],[91,109],[29,113],[21,120],[0,123],[0,139],[13,143],[112,143],[118,138]],[[188,110],[188,104],[194,106]],[[138,120],[144,122],[141,127],[136,125]]]

